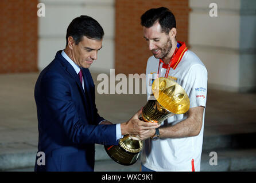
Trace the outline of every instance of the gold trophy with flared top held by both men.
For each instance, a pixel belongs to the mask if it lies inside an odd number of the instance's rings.
[[[169,78],[157,78],[152,84],[154,100],[149,100],[142,109],[140,120],[160,124],[174,114],[184,114],[189,109],[189,98],[183,87]],[[133,140],[129,134],[118,145],[104,145],[115,162],[133,165],[142,150],[142,141]]]

